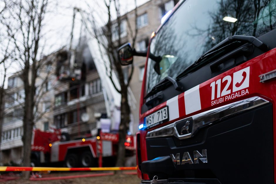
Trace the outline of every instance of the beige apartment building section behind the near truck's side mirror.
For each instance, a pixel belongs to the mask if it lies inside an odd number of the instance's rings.
[[[153,31],[156,31],[161,24],[162,17],[168,13],[177,4],[179,0],[150,0],[145,4],[137,7],[137,20],[135,21],[135,11],[132,10],[126,15],[129,20],[130,26],[127,26],[127,21],[122,20],[121,23],[121,43],[131,43],[132,38],[130,32],[135,32],[135,24],[138,28],[137,38],[135,45],[132,45],[137,51],[145,51],[149,45],[149,39]],[[130,29],[129,29],[130,27]],[[115,29],[116,30],[116,29]],[[118,31],[117,31],[118,32]],[[115,32],[116,33],[116,32]],[[119,36],[115,34],[114,40],[118,39]],[[142,80],[144,76],[146,58],[134,57],[134,72],[132,80],[130,82],[130,88],[132,93],[130,97],[133,97],[131,102],[132,112],[132,125],[130,131],[135,134],[138,131],[139,126],[139,102],[140,93],[142,87]],[[124,67],[124,71],[127,73],[130,70],[130,66]]]

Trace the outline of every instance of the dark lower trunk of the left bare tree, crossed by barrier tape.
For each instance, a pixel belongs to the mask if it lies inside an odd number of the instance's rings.
[[[25,88],[25,106],[23,117],[23,163],[24,167],[30,167],[31,163],[31,141],[33,135],[33,92]],[[22,177],[28,179],[30,171],[24,171]]]

